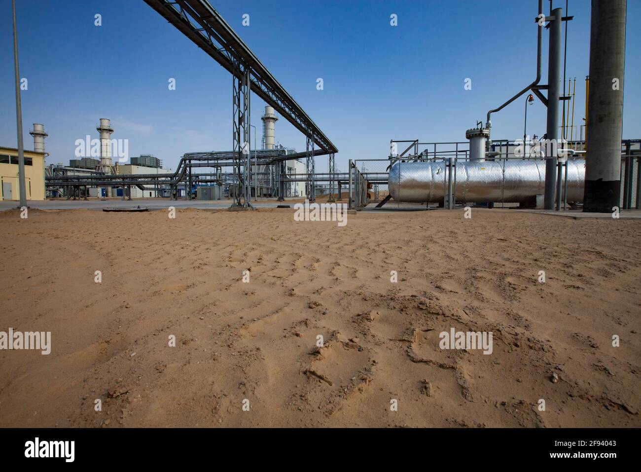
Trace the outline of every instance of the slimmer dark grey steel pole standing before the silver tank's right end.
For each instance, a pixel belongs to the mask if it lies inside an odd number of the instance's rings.
[[[559,126],[559,79],[561,71],[561,25],[563,12],[554,8],[550,21],[550,44],[547,56],[547,146],[545,146],[545,195],[544,207],[554,209],[554,193],[556,192],[556,150],[558,144]],[[590,84],[591,85],[591,84]]]

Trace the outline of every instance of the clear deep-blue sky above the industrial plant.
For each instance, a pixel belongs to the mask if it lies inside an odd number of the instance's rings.
[[[465,130],[535,77],[536,0],[211,1],[347,159],[385,158],[390,139],[465,141]],[[544,2],[545,11],[549,2]],[[554,1],[565,8],[565,0]],[[231,148],[231,76],[142,0],[17,2],[24,143],[44,123],[47,163],[69,164],[74,141],[112,138],[129,155],[175,168],[185,152]],[[103,26],[94,26],[101,13]],[[242,26],[242,15],[250,26]],[[390,14],[398,26],[390,26]],[[590,1],[570,0],[567,77],[577,78],[574,121],[585,110]],[[624,137],[641,137],[641,1],[628,0]],[[0,1],[0,145],[15,147],[11,1]],[[547,34],[544,34],[546,82]],[[167,80],[176,78],[176,91]],[[324,90],[317,91],[316,79]],[[465,78],[472,90],[463,89]],[[252,123],[265,103],[252,97]],[[523,133],[524,98],[492,118],[492,137]],[[545,108],[528,109],[528,134],[545,132]],[[276,139],[304,150],[285,119]],[[326,166],[319,158],[317,169]]]

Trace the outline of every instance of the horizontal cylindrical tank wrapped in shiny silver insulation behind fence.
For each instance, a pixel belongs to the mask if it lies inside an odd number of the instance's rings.
[[[567,170],[567,201],[583,202],[585,160],[570,159]],[[444,162],[397,162],[388,177],[390,195],[397,202],[443,202],[446,172]],[[465,161],[455,172],[459,203],[528,202],[545,191],[545,161]]]

